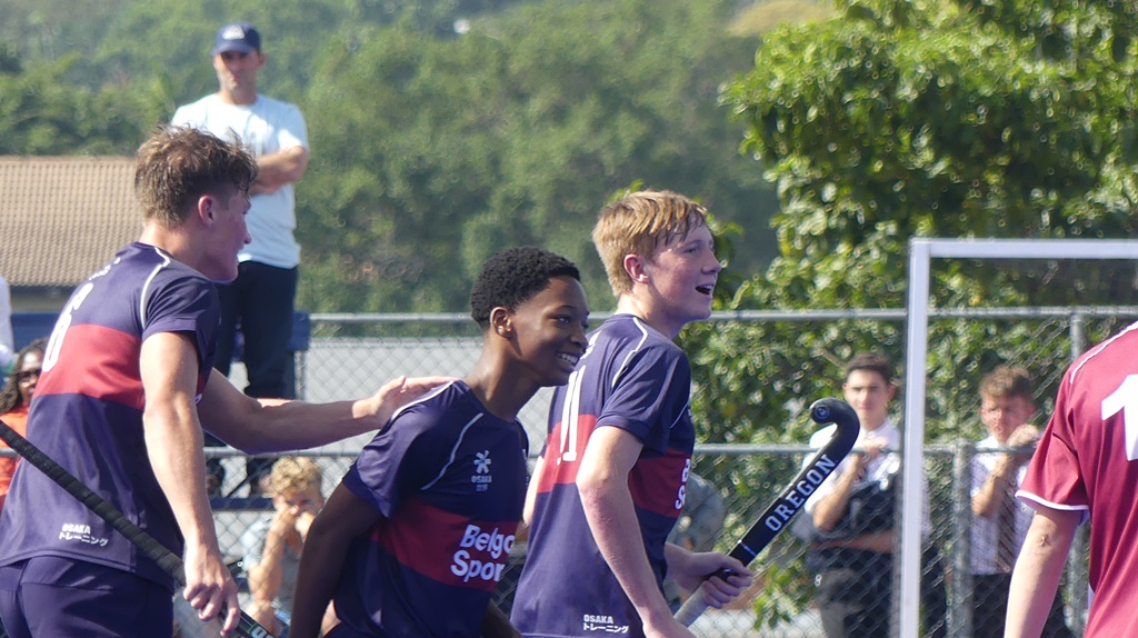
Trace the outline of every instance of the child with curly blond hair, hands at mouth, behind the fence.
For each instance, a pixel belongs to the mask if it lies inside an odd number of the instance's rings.
[[[323,471],[314,461],[284,456],[267,479],[274,513],[249,525],[241,536],[253,605],[249,614],[277,638],[288,636],[296,575],[308,527],[324,506]],[[325,614],[323,631],[335,615]]]

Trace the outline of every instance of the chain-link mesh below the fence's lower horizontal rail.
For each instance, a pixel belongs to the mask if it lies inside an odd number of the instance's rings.
[[[694,473],[712,486],[714,491],[708,499],[719,506],[703,503],[700,509],[704,515],[685,513],[677,527],[684,530],[703,527],[710,532],[711,547],[729,550],[741,533],[737,530],[754,521],[774,495],[782,491],[785,482],[798,473],[809,453],[806,446],[699,446]],[[973,514],[968,505],[971,477],[967,459],[974,453],[975,446],[968,442],[930,446],[925,450],[931,535],[923,564],[921,600],[924,636],[927,637],[971,636],[971,628],[1003,620],[1001,616],[993,618],[998,610],[986,611],[983,596],[975,598],[979,611],[973,613],[974,581],[968,569],[968,530]],[[221,456],[226,463],[240,457],[225,450],[211,450],[209,454]],[[304,455],[312,456],[324,467],[325,492],[339,482],[355,459],[351,453]],[[732,482],[729,477],[743,472],[744,466],[749,466],[745,472],[754,478],[745,483]],[[213,504],[223,553],[231,562],[241,561],[246,550],[242,536],[258,517],[272,515],[272,504],[267,498],[236,495],[215,498]],[[698,535],[678,536],[687,539]],[[700,545],[698,538],[695,545]],[[693,630],[707,637],[824,637],[815,605],[818,574],[808,567],[809,549],[810,544],[792,532],[775,537],[766,553],[752,564],[756,580],[748,593],[726,610],[706,612]],[[495,594],[495,600],[503,608],[510,607],[523,561],[525,544],[518,542],[511,565]],[[857,587],[851,595],[888,597],[894,582],[893,574],[889,573],[883,587]],[[669,594],[674,594],[671,588]],[[1067,599],[1066,603],[1064,612],[1067,618],[1082,612],[1081,600]],[[1069,621],[1066,624],[1075,623]]]

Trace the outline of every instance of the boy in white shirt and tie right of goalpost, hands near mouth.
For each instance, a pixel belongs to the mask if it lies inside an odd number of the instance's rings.
[[[972,457],[972,635],[976,638],[1004,636],[1012,567],[1031,524],[1032,511],[1015,499],[1015,491],[1039,441],[1039,429],[1028,423],[1034,413],[1026,370],[1000,366],[981,380],[980,420],[988,438],[978,447],[1020,449],[981,450]],[[1042,636],[1071,636],[1059,595]]]

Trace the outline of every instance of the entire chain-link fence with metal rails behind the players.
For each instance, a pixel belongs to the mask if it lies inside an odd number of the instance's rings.
[[[757,313],[712,317],[720,322],[798,321],[802,330],[831,330],[834,322],[851,316],[826,317],[817,313]],[[1042,426],[1053,404],[1055,387],[1071,358],[1088,343],[1098,341],[1123,325],[1125,317],[1138,315],[1131,308],[995,308],[966,313],[934,313],[930,334],[950,340],[960,334],[983,338],[992,361],[1023,365],[1036,376],[1034,422]],[[904,328],[904,312],[879,313],[872,321]],[[832,320],[832,321],[831,321]],[[857,321],[866,321],[858,316]],[[397,374],[461,375],[473,365],[480,340],[464,315],[313,315],[311,347],[298,354],[298,384],[307,400],[325,401],[366,396]],[[959,324],[967,325],[960,330]],[[946,343],[951,346],[951,343]],[[930,528],[922,556],[922,631],[924,636],[979,636],[984,628],[1003,620],[1003,607],[993,602],[989,581],[992,574],[976,572],[973,564],[973,538],[970,532],[975,515],[971,507],[971,459],[978,454],[975,442],[984,437],[979,420],[976,383],[988,367],[983,362],[940,362],[929,371],[927,445],[925,477]],[[954,370],[954,366],[956,367]],[[234,380],[240,384],[240,370]],[[900,414],[898,395],[893,413]],[[545,431],[546,393],[530,401],[521,415],[530,437],[530,454],[541,448]],[[316,457],[325,469],[325,491],[338,482],[368,440],[325,446]],[[712,486],[712,498],[721,505],[711,522],[682,519],[679,528],[700,525],[714,530],[711,545],[731,549],[759,512],[800,469],[808,454],[805,445],[724,445],[698,446],[694,471]],[[999,450],[981,449],[980,454]],[[308,454],[308,453],[306,453]],[[229,500],[215,500],[222,544],[234,560],[240,554],[240,535],[256,516],[269,515],[266,499],[242,498],[240,459],[225,458],[231,471],[226,486]],[[250,506],[261,509],[250,509]],[[718,516],[718,517],[717,517]],[[692,535],[688,535],[692,536]],[[678,537],[677,537],[678,538]],[[691,540],[688,538],[688,540]],[[693,630],[700,636],[825,636],[815,603],[819,573],[809,565],[810,544],[794,533],[782,533],[752,565],[757,578],[750,590],[727,610],[709,611]],[[509,608],[513,587],[523,562],[525,544],[517,544],[513,564],[503,575],[497,602]],[[1063,622],[1073,636],[1081,636],[1086,612],[1086,564],[1080,548],[1072,552],[1072,564],[1064,575],[1065,596],[1059,608]],[[888,565],[888,562],[887,562]],[[851,596],[884,597],[896,608],[897,575],[882,575],[876,564],[872,572],[857,574]],[[975,573],[974,573],[975,572]],[[1000,587],[997,577],[997,591]],[[669,589],[670,594],[674,590]],[[890,612],[891,631],[897,631],[896,612]],[[890,623],[884,623],[888,627]]]

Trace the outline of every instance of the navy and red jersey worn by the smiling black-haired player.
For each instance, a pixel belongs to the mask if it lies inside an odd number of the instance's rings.
[[[344,477],[384,519],[352,542],[340,619],[372,636],[477,638],[521,520],[527,447],[462,381],[402,409]]]

